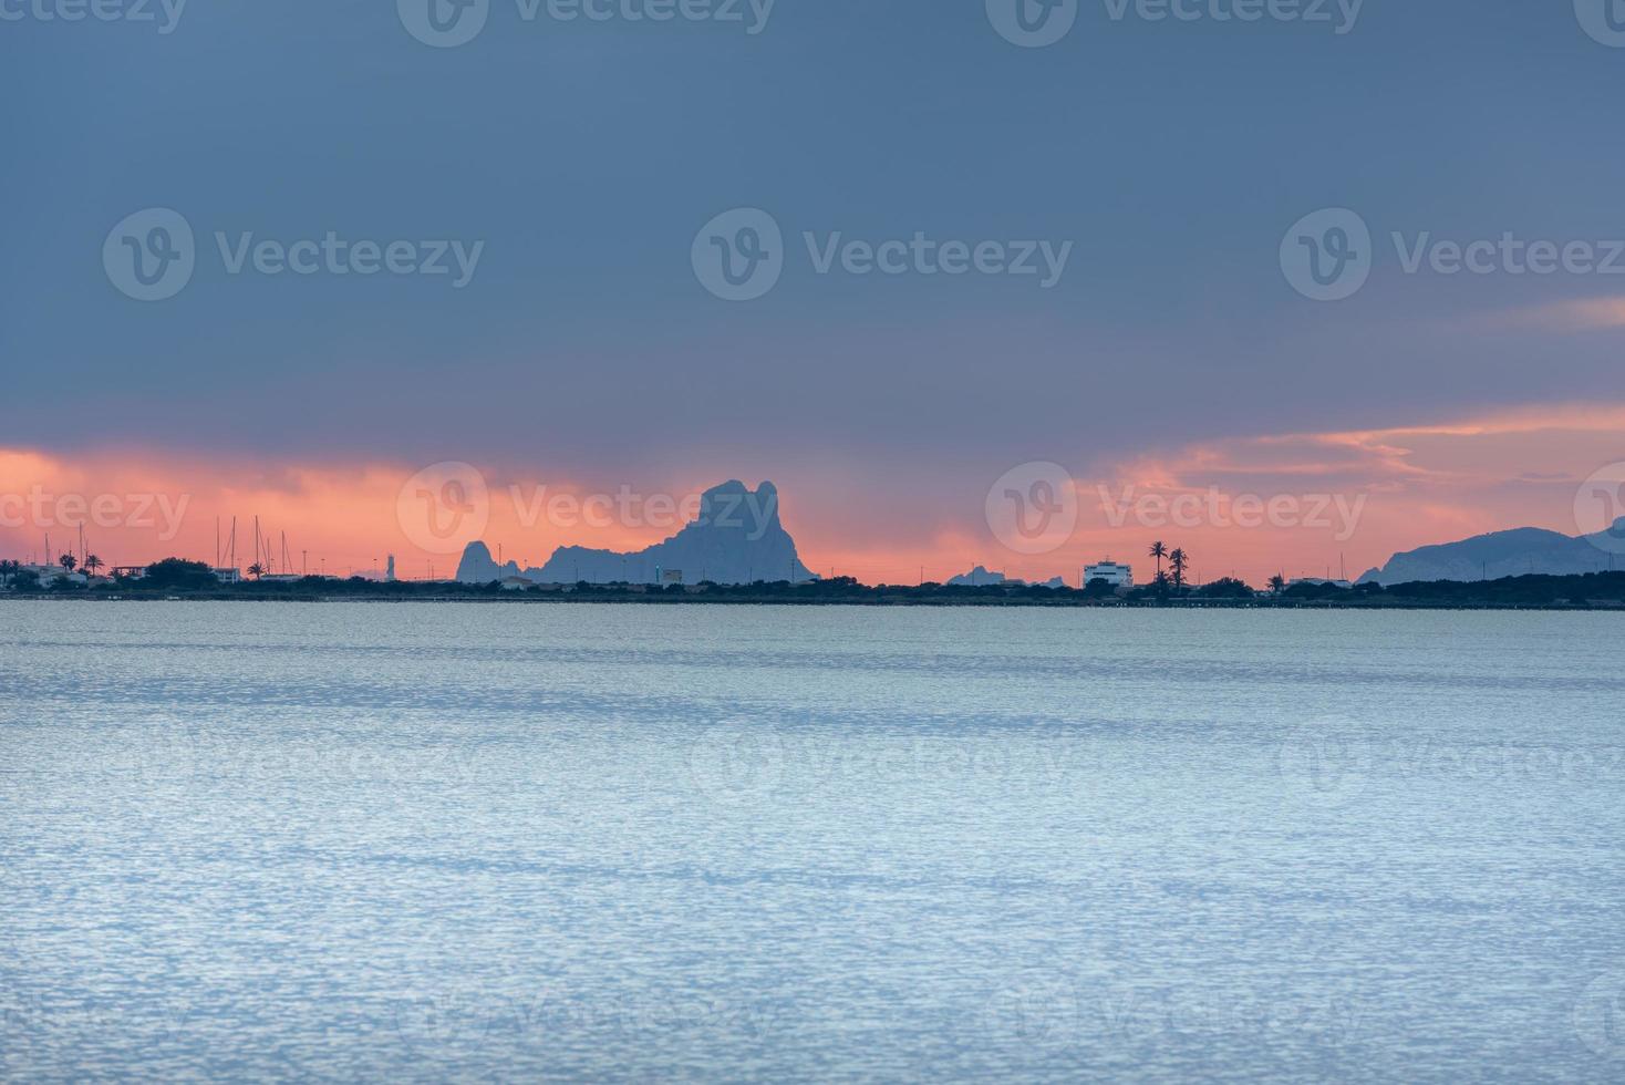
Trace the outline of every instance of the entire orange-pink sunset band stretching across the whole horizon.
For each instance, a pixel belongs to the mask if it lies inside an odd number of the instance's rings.
[[[1003,547],[983,520],[990,479],[956,497],[899,504],[874,479],[778,471],[783,520],[819,573],[868,583],[944,580],[975,564],[1029,580],[1076,581],[1082,564],[1133,560],[1149,575],[1152,539],[1183,546],[1201,578],[1274,572],[1357,575],[1393,552],[1513,526],[1576,533],[1575,494],[1625,460],[1625,404],[1518,408],[1482,416],[1324,434],[1261,434],[1097,465],[1074,479],[1077,528],[1050,554]],[[522,565],[557,546],[639,549],[674,534],[718,478],[635,491],[486,468],[483,515],[424,549],[403,486],[414,466],[263,465],[164,455],[60,456],[0,450],[0,552],[88,549],[110,565],[179,554],[214,560],[236,517],[236,564],[254,560],[254,517],[280,570],[346,575],[395,554],[403,577],[447,577],[474,538]],[[991,473],[996,474],[996,473]],[[754,484],[756,478],[746,479]],[[895,482],[895,474],[890,478]],[[941,491],[941,479],[931,479]],[[863,504],[852,499],[863,495]],[[921,512],[925,510],[925,512]],[[221,541],[216,544],[216,523]],[[286,533],[288,557],[283,557]]]

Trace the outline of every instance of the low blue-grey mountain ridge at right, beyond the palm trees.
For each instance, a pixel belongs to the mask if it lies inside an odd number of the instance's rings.
[[[1568,536],[1544,528],[1513,528],[1459,542],[1424,546],[1394,554],[1386,565],[1360,577],[1358,583],[1386,586],[1433,580],[1472,581],[1529,573],[1570,577],[1609,568],[1625,568],[1625,517],[1596,534]]]

